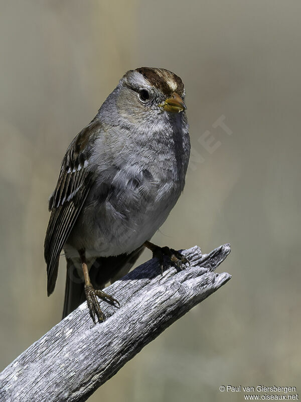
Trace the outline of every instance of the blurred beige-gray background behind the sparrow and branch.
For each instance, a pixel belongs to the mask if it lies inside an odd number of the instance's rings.
[[[47,298],[43,242],[67,146],[126,70],[156,66],[185,83],[193,150],[153,240],[229,242],[232,279],[89,401],[300,384],[300,13],[298,0],[0,3],[0,370],[61,319],[65,261]]]

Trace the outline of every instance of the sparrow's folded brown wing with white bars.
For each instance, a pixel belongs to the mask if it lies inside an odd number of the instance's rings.
[[[93,171],[87,167],[96,132],[97,122],[92,121],[73,139],[63,159],[57,186],[49,199],[51,215],[44,243],[48,295],[55,287],[62,248],[94,181]]]

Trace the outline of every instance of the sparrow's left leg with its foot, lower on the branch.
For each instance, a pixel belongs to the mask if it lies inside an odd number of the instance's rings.
[[[86,293],[86,299],[87,299],[87,304],[90,312],[90,316],[93,320],[93,323],[96,324],[95,321],[95,315],[97,317],[97,320],[99,323],[103,322],[105,320],[105,316],[102,313],[99,302],[97,300],[98,296],[105,302],[109,303],[112,306],[118,306],[120,307],[120,304],[118,300],[116,300],[114,297],[110,296],[109,294],[103,292],[102,290],[95,290],[89,277],[89,271],[88,271],[88,266],[86,262],[86,257],[85,257],[85,250],[80,250],[79,251],[80,259],[82,262],[82,268],[83,268],[83,273],[84,273],[84,279],[85,279],[85,293]]]

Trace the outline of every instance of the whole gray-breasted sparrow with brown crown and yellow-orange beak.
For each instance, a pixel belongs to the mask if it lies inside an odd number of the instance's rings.
[[[183,267],[180,252],[150,242],[183,192],[190,156],[185,87],[155,67],[127,71],[95,118],[72,140],[49,198],[45,236],[47,293],[59,258],[67,261],[63,318],[87,300],[96,324],[105,320],[98,298],[126,274],[146,247]],[[166,257],[167,256],[167,257]]]

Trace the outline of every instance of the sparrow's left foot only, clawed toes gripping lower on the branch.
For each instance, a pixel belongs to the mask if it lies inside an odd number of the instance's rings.
[[[87,304],[90,312],[90,316],[93,320],[93,323],[96,324],[95,321],[95,315],[97,317],[97,320],[99,323],[105,321],[105,315],[100,309],[99,302],[97,300],[97,296],[104,300],[104,302],[107,302],[108,304],[115,306],[115,307],[120,307],[120,304],[118,300],[116,300],[114,297],[110,296],[109,294],[105,293],[102,290],[95,290],[94,287],[89,284],[85,285],[85,293],[86,293],[86,299],[87,299]]]

